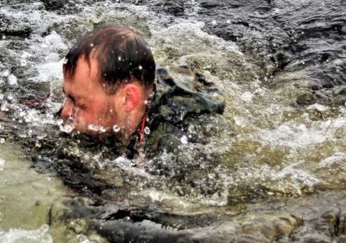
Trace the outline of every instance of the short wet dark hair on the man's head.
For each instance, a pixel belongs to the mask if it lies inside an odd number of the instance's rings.
[[[95,50],[95,52],[93,52]],[[77,62],[96,54],[100,80],[109,94],[116,93],[119,84],[133,77],[145,87],[152,87],[155,61],[148,43],[128,27],[105,25],[94,29],[74,44],[66,55],[64,75],[74,76]]]

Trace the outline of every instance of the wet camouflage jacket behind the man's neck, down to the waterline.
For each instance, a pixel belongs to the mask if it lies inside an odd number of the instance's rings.
[[[172,151],[184,142],[207,143],[208,136],[191,135],[188,128],[209,124],[210,114],[223,113],[225,102],[219,88],[188,66],[157,68],[155,85],[151,134],[146,139],[149,154]]]

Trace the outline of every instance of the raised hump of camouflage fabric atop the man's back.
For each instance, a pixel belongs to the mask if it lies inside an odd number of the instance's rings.
[[[156,71],[155,112],[168,120],[186,115],[223,113],[225,102],[219,88],[188,66],[159,67]]]

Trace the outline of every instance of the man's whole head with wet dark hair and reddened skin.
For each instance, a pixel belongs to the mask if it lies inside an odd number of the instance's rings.
[[[155,62],[146,41],[130,28],[107,25],[82,37],[66,61],[61,116],[83,133],[120,128],[130,136],[154,86]]]

